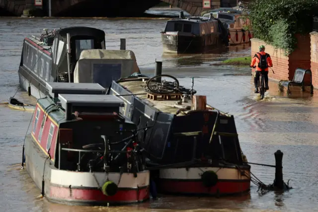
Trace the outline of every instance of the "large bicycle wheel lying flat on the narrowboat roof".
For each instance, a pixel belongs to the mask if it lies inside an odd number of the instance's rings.
[[[173,79],[173,81],[162,79],[162,77]],[[153,93],[168,94],[179,89],[179,81],[174,76],[160,74],[147,81],[147,88]]]

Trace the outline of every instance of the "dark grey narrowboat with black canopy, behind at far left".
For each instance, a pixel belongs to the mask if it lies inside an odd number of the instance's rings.
[[[72,82],[84,49],[105,49],[105,32],[80,26],[44,29],[39,37],[26,37],[18,70],[20,86],[39,99],[48,95],[47,82]]]

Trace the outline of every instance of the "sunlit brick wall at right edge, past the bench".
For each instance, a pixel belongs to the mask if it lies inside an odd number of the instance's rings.
[[[311,37],[311,69],[313,85],[318,88],[318,32],[310,33]]]

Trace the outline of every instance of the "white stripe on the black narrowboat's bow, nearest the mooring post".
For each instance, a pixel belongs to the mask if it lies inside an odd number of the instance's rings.
[[[248,180],[250,179],[250,172],[242,170],[245,175],[241,175],[237,168],[220,168],[220,167],[196,167],[196,168],[171,168],[160,169],[159,178],[161,179],[182,179],[182,180],[198,180],[205,171],[214,171],[221,180]]]

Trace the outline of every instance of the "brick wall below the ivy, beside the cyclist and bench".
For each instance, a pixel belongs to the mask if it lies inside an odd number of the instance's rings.
[[[274,80],[293,80],[297,68],[311,69],[311,38],[310,35],[296,35],[298,43],[295,51],[289,56],[284,55],[281,49],[275,49],[264,41],[251,39],[251,56],[258,52],[258,46],[264,45],[265,52],[268,53],[273,61],[275,74],[269,69],[268,76]],[[253,69],[252,71],[255,71]]]

